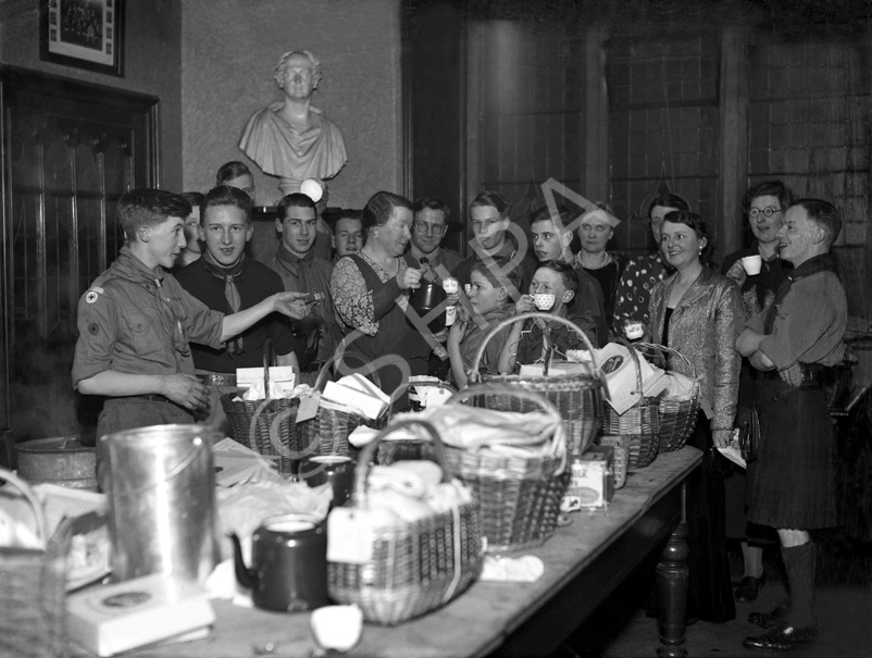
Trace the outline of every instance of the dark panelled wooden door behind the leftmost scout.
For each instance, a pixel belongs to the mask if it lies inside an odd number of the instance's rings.
[[[99,401],[73,392],[78,297],[123,243],[119,197],[157,185],[158,99],[0,70],[0,426],[82,432]]]

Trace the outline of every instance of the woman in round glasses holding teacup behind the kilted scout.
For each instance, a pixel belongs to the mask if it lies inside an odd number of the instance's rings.
[[[781,181],[765,181],[755,185],[745,194],[742,208],[753,233],[755,240],[747,249],[731,253],[724,259],[721,272],[735,281],[742,293],[744,319],[767,309],[775,298],[781,283],[793,270],[793,265],[778,258],[777,232],[784,220],[784,211],[790,206],[793,195]],[[742,259],[760,256],[762,265],[758,274],[748,274]],[[738,410],[736,424],[751,421],[755,376],[747,359],[742,361],[739,376]],[[749,463],[747,471],[734,469],[726,479],[726,536],[739,539],[744,573],[736,587],[736,603],[750,604],[757,600],[767,580],[763,571],[763,545],[775,542],[774,533],[760,525],[747,522],[749,505],[746,492],[751,491],[756,464]]]

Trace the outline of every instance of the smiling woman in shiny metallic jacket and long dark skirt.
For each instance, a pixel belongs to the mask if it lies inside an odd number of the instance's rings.
[[[671,346],[693,364],[673,359],[674,372],[699,380],[700,412],[688,445],[709,452],[733,434],[740,359],[735,342],[744,323],[735,283],[703,261],[712,251],[709,225],[695,212],[671,211],[660,227],[661,251],[675,273],[651,291],[649,338]],[[690,582],[687,616],[726,621],[736,616],[724,533],[724,483],[717,459],[703,460],[687,480]],[[717,469],[717,470],[715,470]]]

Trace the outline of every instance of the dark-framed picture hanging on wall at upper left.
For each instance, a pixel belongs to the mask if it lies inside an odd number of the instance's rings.
[[[45,62],[124,77],[126,0],[39,0]]]

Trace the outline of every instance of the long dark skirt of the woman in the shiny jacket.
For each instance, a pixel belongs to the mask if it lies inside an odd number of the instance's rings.
[[[709,421],[701,412],[687,444],[699,448],[706,456],[686,485],[687,545],[690,549],[687,557],[687,617],[712,622],[730,621],[736,618],[736,606],[724,532],[725,460],[711,452],[713,444]]]

